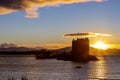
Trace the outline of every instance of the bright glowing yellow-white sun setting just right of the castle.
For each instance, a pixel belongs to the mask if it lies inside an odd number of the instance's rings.
[[[93,44],[91,46],[94,47],[94,48],[102,49],[102,50],[106,50],[106,49],[108,49],[110,47],[110,45],[105,44],[102,41],[98,41],[98,42],[96,42],[95,44]]]

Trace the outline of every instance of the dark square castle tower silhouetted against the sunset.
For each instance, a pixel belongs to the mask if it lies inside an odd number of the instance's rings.
[[[74,61],[86,60],[89,57],[89,39],[72,41],[72,57]]]

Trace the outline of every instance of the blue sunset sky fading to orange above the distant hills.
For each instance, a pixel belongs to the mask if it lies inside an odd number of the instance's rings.
[[[72,38],[63,35],[77,32],[112,35],[91,43],[120,43],[120,0],[17,1],[0,0],[0,44],[55,49],[70,46]]]

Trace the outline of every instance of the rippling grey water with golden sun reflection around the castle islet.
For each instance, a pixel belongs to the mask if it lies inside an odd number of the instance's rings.
[[[34,56],[0,56],[0,80],[120,80],[120,56],[100,56],[99,61],[75,63]],[[82,66],[82,68],[75,68]]]

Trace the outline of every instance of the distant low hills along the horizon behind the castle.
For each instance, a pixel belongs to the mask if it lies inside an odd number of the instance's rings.
[[[24,51],[40,51],[41,49],[45,49],[42,47],[38,48],[27,48],[27,47],[7,47],[7,48],[0,48],[0,51],[18,51],[18,52],[24,52]],[[48,49],[46,49],[48,50]],[[64,47],[61,49],[57,49],[55,51],[58,52],[71,52],[72,47]],[[108,50],[101,50],[90,47],[90,54],[120,54],[120,49],[108,49]]]

